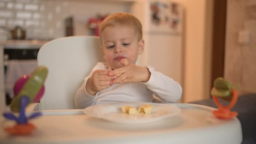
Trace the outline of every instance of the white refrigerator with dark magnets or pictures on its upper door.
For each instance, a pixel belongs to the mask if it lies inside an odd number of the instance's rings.
[[[170,0],[137,0],[131,13],[143,26],[144,53],[139,65],[150,65],[182,85],[184,58],[184,12]]]

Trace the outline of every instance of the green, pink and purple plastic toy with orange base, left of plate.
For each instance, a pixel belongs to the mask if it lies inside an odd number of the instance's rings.
[[[12,135],[26,135],[31,133],[35,126],[28,120],[41,115],[40,112],[34,112],[29,117],[25,115],[25,109],[29,103],[37,102],[44,93],[44,82],[48,74],[46,67],[37,67],[31,75],[20,77],[13,91],[15,97],[11,101],[11,111],[18,112],[19,116],[15,116],[12,112],[4,112],[3,116],[9,120],[16,121],[13,127],[5,127],[5,131]]]

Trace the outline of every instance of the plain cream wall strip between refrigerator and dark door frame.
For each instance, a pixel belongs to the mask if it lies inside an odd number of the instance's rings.
[[[210,95],[213,0],[173,0],[185,9],[183,101]]]

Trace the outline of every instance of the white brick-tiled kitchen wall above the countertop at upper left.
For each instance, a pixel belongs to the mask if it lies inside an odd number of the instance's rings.
[[[75,16],[83,23],[97,13],[128,12],[129,3],[104,0],[0,0],[0,26],[26,29],[27,38],[64,36],[64,18]],[[86,35],[86,34],[85,34]]]

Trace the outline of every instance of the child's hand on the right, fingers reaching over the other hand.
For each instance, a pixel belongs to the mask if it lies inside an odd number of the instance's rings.
[[[150,78],[151,73],[146,67],[140,67],[135,64],[128,64],[125,67],[115,69],[109,72],[109,76],[122,74],[114,80],[110,81],[110,84],[115,83],[137,83],[147,82]]]

